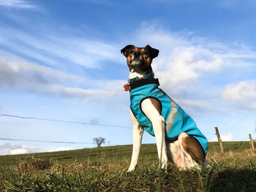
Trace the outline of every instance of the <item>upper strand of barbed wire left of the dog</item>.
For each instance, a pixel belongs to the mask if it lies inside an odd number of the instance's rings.
[[[33,118],[33,117],[22,117],[19,115],[0,114],[0,117],[3,117],[3,116],[10,117],[10,118],[30,119],[30,120],[46,120],[46,121],[53,121],[53,122],[60,122],[60,123],[75,123],[75,124],[83,124],[83,125],[90,125],[90,126],[108,126],[108,127],[118,127],[118,128],[131,128],[128,126],[118,126],[118,125],[110,125],[110,124],[85,123],[85,122],[78,122],[78,121],[71,121],[71,120],[56,120],[56,119],[48,119],[48,118]]]

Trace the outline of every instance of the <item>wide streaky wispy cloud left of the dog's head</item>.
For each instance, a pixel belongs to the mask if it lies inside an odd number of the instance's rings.
[[[0,44],[26,57],[36,58],[48,65],[79,64],[89,68],[97,68],[102,61],[120,61],[116,45],[86,39],[70,34],[28,34],[12,28],[0,27]]]

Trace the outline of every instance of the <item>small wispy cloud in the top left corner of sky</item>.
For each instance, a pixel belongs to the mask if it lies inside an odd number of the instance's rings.
[[[35,9],[36,5],[31,4],[31,1],[26,0],[1,0],[0,6],[20,9]]]

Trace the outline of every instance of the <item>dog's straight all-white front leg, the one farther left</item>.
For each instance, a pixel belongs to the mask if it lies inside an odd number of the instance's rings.
[[[132,126],[133,126],[133,132],[132,132],[133,145],[132,145],[132,160],[127,172],[132,172],[138,164],[138,159],[140,155],[140,145],[141,145],[141,140],[142,140],[143,131],[144,131],[144,129],[140,127],[138,120],[135,118],[135,115],[133,115],[131,110],[130,110],[130,113],[131,113]]]

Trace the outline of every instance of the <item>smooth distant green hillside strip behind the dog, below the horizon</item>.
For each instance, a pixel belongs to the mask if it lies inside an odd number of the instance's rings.
[[[241,152],[250,148],[249,142],[222,142],[225,153]],[[219,153],[219,143],[209,142],[208,155]],[[130,159],[132,155],[132,145],[118,145],[112,147],[94,147],[82,150],[67,150],[49,153],[33,153],[25,155],[1,155],[0,166],[15,166],[24,160],[31,158],[44,158],[48,161],[58,161],[59,164],[70,164],[72,162],[81,161],[97,161],[104,158],[105,160],[119,161],[122,159]],[[145,144],[141,146],[140,158],[148,159],[148,161],[157,159],[157,147],[155,144]]]

